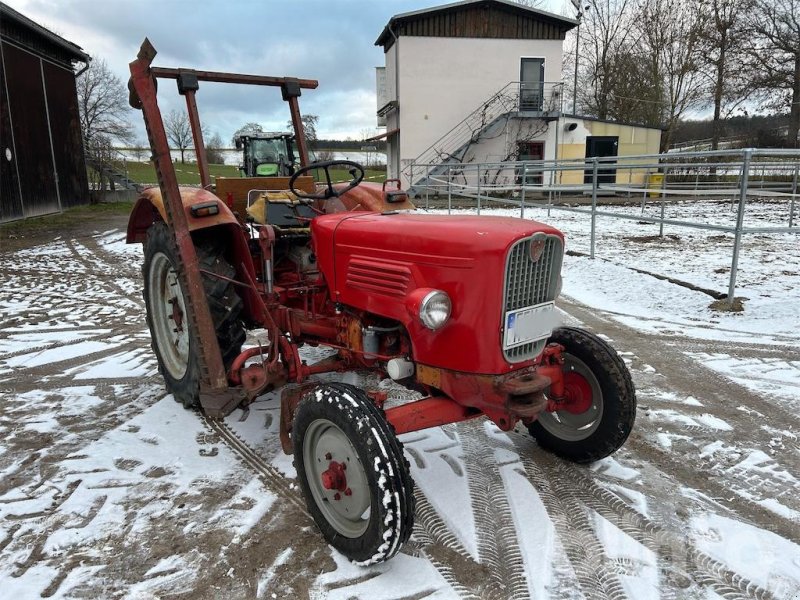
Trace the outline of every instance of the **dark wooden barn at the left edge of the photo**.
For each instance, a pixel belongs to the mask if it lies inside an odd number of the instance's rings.
[[[0,2],[0,222],[88,202],[75,69],[89,60]]]

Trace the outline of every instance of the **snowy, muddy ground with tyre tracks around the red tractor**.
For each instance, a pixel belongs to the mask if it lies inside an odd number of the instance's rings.
[[[584,239],[571,216],[555,224]],[[560,307],[631,368],[640,407],[630,440],[586,468],[539,450],[522,428],[483,421],[403,436],[414,535],[364,569],[324,544],[306,514],[280,450],[276,396],[223,423],[165,396],[141,251],[124,244],[124,222],[112,225],[0,248],[3,597],[800,594],[800,292],[779,294],[769,261],[758,272],[745,259],[758,310],[746,303],[734,316],[709,311],[698,292],[569,257]],[[626,256],[613,235],[604,243],[615,263],[648,262],[641,246]],[[702,285],[720,261],[693,260],[681,274]],[[680,255],[667,262],[674,276]],[[797,271],[797,259],[783,270]]]

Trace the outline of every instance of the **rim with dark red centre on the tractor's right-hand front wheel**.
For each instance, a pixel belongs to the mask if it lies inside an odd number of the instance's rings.
[[[563,408],[539,415],[539,423],[562,440],[577,442],[592,435],[603,416],[603,391],[586,364],[566,352]]]

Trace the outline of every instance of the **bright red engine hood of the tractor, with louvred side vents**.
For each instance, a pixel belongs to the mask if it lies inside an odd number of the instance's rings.
[[[502,356],[503,287],[509,248],[537,232],[563,240],[549,225],[512,217],[339,213],[312,222],[335,301],[403,323],[415,360],[475,373],[525,366]],[[442,329],[430,331],[410,314],[406,300],[419,288],[450,296]]]

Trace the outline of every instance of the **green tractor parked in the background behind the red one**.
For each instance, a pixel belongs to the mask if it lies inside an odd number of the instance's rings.
[[[236,138],[242,177],[290,177],[299,166],[292,133],[250,133]]]

